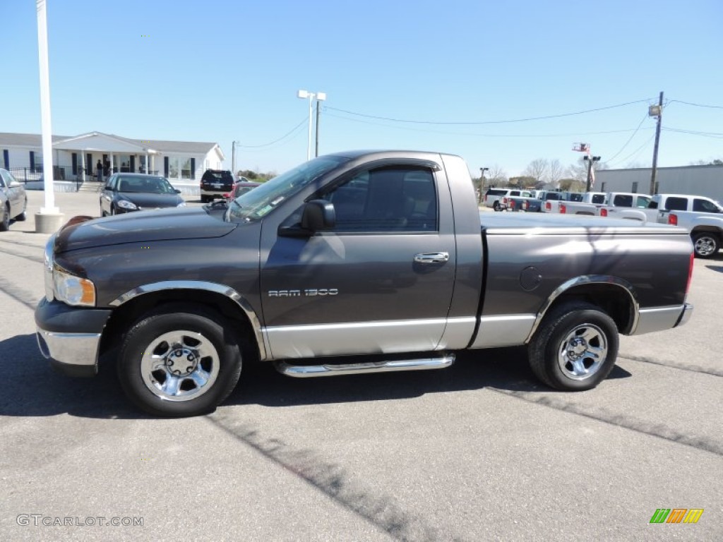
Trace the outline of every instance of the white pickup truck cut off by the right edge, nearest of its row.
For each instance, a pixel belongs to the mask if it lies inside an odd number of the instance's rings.
[[[679,225],[690,232],[693,249],[698,258],[711,258],[718,254],[723,242],[723,206],[704,196],[684,194],[656,194],[651,209],[657,212],[657,221]]]

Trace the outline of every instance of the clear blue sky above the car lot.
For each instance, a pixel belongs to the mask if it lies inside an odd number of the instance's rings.
[[[452,152],[515,176],[587,142],[649,167],[664,91],[659,165],[723,158],[720,0],[47,4],[54,134],[218,142],[229,167],[236,140],[239,169],[281,173],[306,160],[305,89],[328,96],[320,154]],[[35,0],[1,0],[0,22],[0,132],[40,133]]]

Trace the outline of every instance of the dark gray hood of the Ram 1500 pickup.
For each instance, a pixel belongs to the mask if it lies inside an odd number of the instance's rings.
[[[237,224],[199,207],[129,212],[108,218],[75,217],[56,236],[56,252],[145,241],[225,236]]]

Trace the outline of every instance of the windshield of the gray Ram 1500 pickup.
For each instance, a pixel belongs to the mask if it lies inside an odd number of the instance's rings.
[[[343,156],[322,156],[274,177],[250,192],[232,199],[226,211],[226,221],[260,220],[304,186],[348,160],[349,158]]]

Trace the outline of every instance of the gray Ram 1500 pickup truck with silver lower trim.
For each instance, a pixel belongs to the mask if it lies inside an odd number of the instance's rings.
[[[115,359],[157,416],[213,410],[252,360],[317,377],[526,345],[542,382],[589,390],[618,334],[690,317],[692,252],[669,225],[480,213],[457,156],[340,152],[228,207],[71,220],[46,246],[35,322],[51,364]]]

